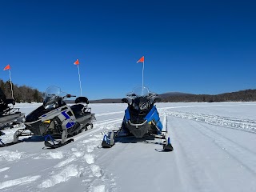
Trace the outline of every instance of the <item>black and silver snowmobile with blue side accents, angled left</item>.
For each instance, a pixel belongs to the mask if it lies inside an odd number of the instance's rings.
[[[72,138],[66,140],[67,138],[80,133],[82,130],[93,128],[92,122],[94,122],[95,117],[91,113],[91,108],[88,107],[88,99],[78,97],[75,99],[75,104],[69,106],[64,102],[64,99],[76,96],[70,94],[61,96],[61,93],[57,86],[48,87],[42,106],[26,116],[24,122],[26,128],[16,131],[14,142],[11,142],[10,145],[21,142],[18,140],[21,136],[35,135],[42,136],[45,140],[45,146],[58,148],[74,141]],[[30,132],[28,133],[27,130]],[[25,141],[28,141],[27,138]]]

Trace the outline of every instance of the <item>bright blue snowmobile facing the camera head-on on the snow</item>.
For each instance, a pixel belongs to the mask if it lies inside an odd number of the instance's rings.
[[[163,150],[174,150],[168,136],[167,122],[166,130],[163,130],[158,110],[154,105],[155,102],[160,101],[158,94],[150,92],[145,86],[137,86],[133,92],[126,94],[126,98],[122,98],[122,102],[127,103],[128,107],[125,110],[122,126],[119,130],[113,130],[104,135],[102,147],[114,146],[116,138],[134,136],[135,138],[145,138],[145,140],[160,138],[163,140],[161,143]]]

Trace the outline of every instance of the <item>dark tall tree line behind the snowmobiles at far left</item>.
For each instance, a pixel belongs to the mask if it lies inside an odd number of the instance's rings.
[[[4,94],[6,94],[6,98],[12,98],[12,88],[15,102],[42,102],[43,100],[42,93],[29,86],[17,86],[12,83],[11,87],[10,81],[3,82],[2,79],[0,79],[0,87]]]

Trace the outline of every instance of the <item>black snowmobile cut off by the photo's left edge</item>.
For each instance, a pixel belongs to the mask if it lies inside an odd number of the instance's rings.
[[[14,108],[14,99],[6,99],[6,95],[0,88],[0,130],[20,126],[25,120],[25,114]],[[0,135],[2,132],[0,131]]]

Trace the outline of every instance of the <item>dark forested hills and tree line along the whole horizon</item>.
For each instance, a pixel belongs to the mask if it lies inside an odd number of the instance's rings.
[[[42,102],[42,92],[29,86],[13,85],[15,102]],[[3,82],[0,79],[0,87],[6,94],[6,98],[11,98],[10,81]],[[125,97],[125,96],[124,96]],[[180,92],[168,92],[159,94],[161,102],[255,102],[256,90],[239,90],[224,94],[186,94]],[[122,98],[104,98],[90,100],[90,103],[121,103]],[[74,101],[67,101],[74,102]]]

